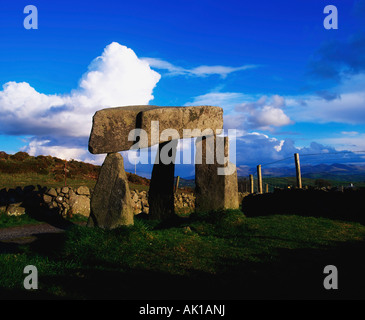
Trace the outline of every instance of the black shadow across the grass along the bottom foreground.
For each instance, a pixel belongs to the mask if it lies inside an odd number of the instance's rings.
[[[59,259],[63,234],[39,235],[29,250]],[[7,250],[17,252],[14,245]],[[277,249],[258,261],[220,258],[215,274],[186,270],[186,275],[117,265],[87,265],[60,274],[39,274],[36,291],[0,289],[1,299],[364,299],[365,242],[338,243],[318,249]],[[338,269],[338,290],[325,290],[326,265]]]

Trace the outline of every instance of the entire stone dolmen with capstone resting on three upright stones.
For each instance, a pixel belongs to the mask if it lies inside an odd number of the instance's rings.
[[[97,111],[89,138],[92,154],[107,154],[91,197],[88,226],[113,229],[133,224],[134,214],[121,151],[158,145],[148,193],[149,217],[175,217],[177,143],[196,138],[197,211],[238,208],[237,171],[229,162],[223,109],[214,106],[126,106]]]

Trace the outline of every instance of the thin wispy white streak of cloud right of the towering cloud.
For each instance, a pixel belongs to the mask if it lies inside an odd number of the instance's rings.
[[[219,75],[222,78],[225,78],[232,72],[243,71],[257,67],[257,65],[243,65],[239,67],[203,65],[191,69],[186,69],[158,58],[143,58],[143,60],[147,61],[152,68],[167,70],[167,75],[171,76],[188,75],[196,77],[206,77],[209,75]]]

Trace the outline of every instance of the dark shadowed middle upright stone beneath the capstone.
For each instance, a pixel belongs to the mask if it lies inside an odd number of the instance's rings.
[[[148,192],[149,217],[166,220],[174,217],[174,174],[178,140],[159,144]]]

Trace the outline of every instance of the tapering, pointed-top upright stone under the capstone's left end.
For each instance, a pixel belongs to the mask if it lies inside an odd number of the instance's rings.
[[[123,157],[109,153],[91,198],[88,226],[113,229],[133,224],[133,209]]]

